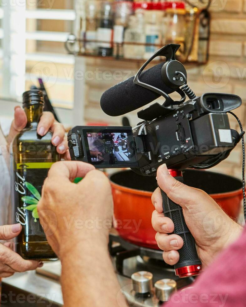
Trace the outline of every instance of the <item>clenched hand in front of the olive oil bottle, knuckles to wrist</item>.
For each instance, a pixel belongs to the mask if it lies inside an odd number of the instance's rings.
[[[76,177],[84,179],[75,184]],[[85,240],[107,247],[113,216],[109,180],[91,164],[57,162],[44,181],[38,212],[48,243],[61,260]]]

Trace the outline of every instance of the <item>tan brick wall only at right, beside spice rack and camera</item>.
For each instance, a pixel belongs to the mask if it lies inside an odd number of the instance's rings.
[[[210,11],[210,58],[208,65],[201,67],[202,79],[215,92],[232,93],[242,98],[243,105],[235,114],[246,129],[246,1],[212,1]],[[232,116],[230,121],[231,127],[238,130],[238,123]],[[241,178],[241,164],[239,144],[229,158],[213,170]]]

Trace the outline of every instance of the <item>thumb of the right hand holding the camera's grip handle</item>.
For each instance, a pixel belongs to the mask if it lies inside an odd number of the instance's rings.
[[[167,169],[166,164],[161,165],[157,170],[157,182],[170,200],[183,208],[188,205],[197,204],[201,200],[202,192],[199,189],[184,185],[172,177]]]

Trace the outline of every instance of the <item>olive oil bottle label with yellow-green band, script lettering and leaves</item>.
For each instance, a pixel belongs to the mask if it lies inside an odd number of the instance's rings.
[[[28,236],[42,237],[46,241],[37,211],[41,190],[48,171],[53,163],[16,164],[14,173],[15,220],[22,225],[25,241]],[[20,238],[20,242],[22,242]],[[19,240],[18,240],[19,241]]]

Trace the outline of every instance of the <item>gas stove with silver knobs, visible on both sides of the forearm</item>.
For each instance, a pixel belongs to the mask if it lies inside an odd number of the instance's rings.
[[[177,277],[174,268],[164,263],[160,250],[134,245],[118,235],[110,235],[109,252],[121,291],[131,307],[159,307],[173,291],[190,286],[195,279]],[[37,301],[42,297],[54,307],[63,306],[60,274],[60,261],[44,263],[36,271],[4,278],[2,293],[34,294]]]

